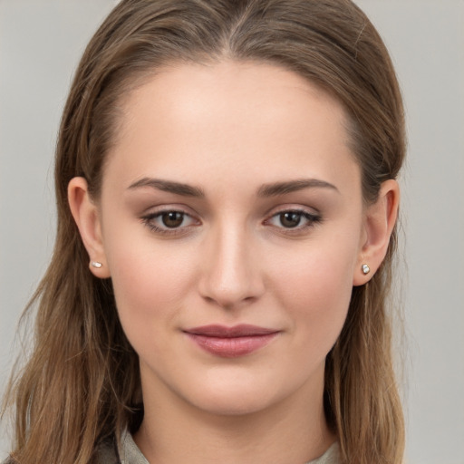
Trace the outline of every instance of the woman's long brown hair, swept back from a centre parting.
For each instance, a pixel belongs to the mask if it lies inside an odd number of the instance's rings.
[[[382,39],[350,0],[122,0],[87,46],[63,111],[53,258],[26,308],[37,308],[33,352],[6,395],[17,462],[92,462],[102,440],[138,427],[138,358],[122,332],[111,281],[88,270],[67,186],[83,176],[98,199],[122,102],[157,68],[224,58],[274,63],[343,104],[367,203],[382,181],[397,177],[405,152],[401,93]],[[324,406],[343,464],[401,462],[404,427],[385,304],[395,248],[393,231],[381,268],[353,288],[326,359]]]

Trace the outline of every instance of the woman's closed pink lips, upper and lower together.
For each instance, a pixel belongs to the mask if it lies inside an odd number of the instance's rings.
[[[233,327],[212,324],[193,327],[184,333],[208,353],[223,358],[237,358],[265,347],[280,331],[249,324]]]

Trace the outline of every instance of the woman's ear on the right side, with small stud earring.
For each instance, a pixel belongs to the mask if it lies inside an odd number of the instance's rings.
[[[400,187],[393,179],[382,183],[379,198],[366,208],[363,218],[364,234],[358,264],[354,270],[353,285],[364,285],[381,266],[387,254],[391,232],[398,218]],[[367,274],[362,265],[369,266]]]

